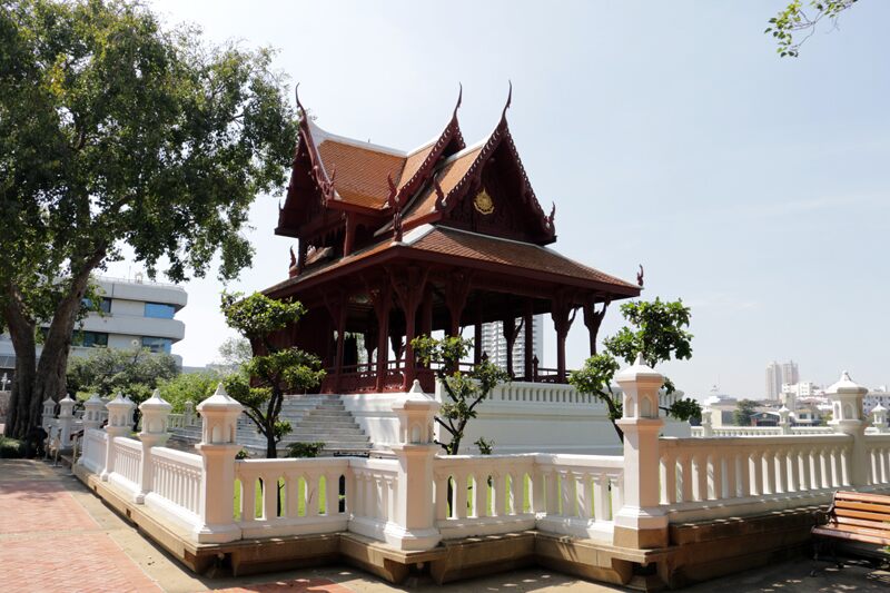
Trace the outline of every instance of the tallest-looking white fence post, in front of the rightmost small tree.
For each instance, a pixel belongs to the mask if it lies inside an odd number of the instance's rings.
[[[659,507],[659,389],[664,377],[645,366],[642,355],[617,374],[623,392],[624,504],[615,514],[613,542],[634,548],[668,545],[668,515]]]

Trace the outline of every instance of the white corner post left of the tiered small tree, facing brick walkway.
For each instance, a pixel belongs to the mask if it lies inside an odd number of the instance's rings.
[[[198,504],[199,523],[192,535],[199,543],[226,543],[240,540],[241,530],[235,524],[233,501],[235,495],[235,456],[240,451],[236,443],[238,416],[244,407],[226,393],[220,383],[216,393],[198,404],[201,414],[201,442],[195,448],[201,455],[201,487]],[[241,484],[245,503],[241,518],[254,515],[247,506],[254,482]]]

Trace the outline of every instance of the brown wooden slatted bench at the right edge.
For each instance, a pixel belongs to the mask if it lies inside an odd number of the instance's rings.
[[[819,515],[812,528],[818,541],[829,538],[863,555],[888,557],[880,550],[890,546],[890,496],[839,491],[828,512]]]

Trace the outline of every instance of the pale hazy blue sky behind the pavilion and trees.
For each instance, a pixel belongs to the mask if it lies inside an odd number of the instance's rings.
[[[169,23],[216,42],[280,50],[323,128],[398,148],[438,134],[464,86],[468,144],[511,129],[563,254],[692,307],[693,358],[665,365],[680,388],[762,396],[764,367],[801,378],[842,369],[890,383],[890,2],[866,0],[822,27],[799,59],[763,34],[775,1],[156,1]],[[287,276],[279,196],[259,197],[257,256],[230,288]],[[116,275],[136,265],[120,263]],[[229,335],[221,285],[192,280],[178,315],[186,365]],[[601,335],[620,327],[617,307]],[[568,364],[586,354],[584,326]],[[555,359],[545,337],[545,362]]]

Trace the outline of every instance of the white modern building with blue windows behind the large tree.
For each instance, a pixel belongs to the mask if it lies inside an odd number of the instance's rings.
[[[186,325],[176,314],[188,303],[186,290],[171,284],[135,279],[99,277],[100,309],[90,313],[75,328],[71,355],[86,356],[91,348],[130,349],[134,346],[154,353],[171,354],[172,345],[186,336]],[[38,345],[37,354],[40,356]],[[181,366],[182,359],[174,355]],[[0,376],[11,377],[16,367],[16,352],[9,334],[0,335]]]

